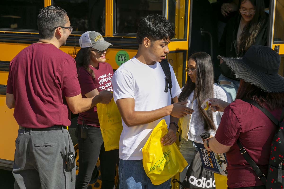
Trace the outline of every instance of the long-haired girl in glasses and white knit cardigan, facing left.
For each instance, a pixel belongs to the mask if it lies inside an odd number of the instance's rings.
[[[202,142],[200,135],[209,131],[214,136],[223,112],[204,110],[201,104],[208,97],[231,102],[231,97],[224,88],[214,83],[213,63],[211,56],[205,52],[197,52],[189,57],[185,71],[188,79],[181,89],[179,101],[187,101],[185,106],[194,110],[192,115],[180,118],[181,143],[180,151],[188,164],[196,154],[193,141]],[[189,165],[180,173],[180,180],[184,180]]]

